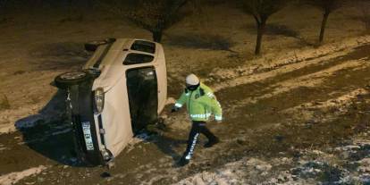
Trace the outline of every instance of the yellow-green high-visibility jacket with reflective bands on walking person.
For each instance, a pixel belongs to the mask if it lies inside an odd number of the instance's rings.
[[[214,92],[205,84],[200,83],[196,90],[185,89],[175,106],[181,108],[186,105],[189,117],[192,121],[208,121],[214,114],[214,120],[223,120],[223,110],[220,103],[214,97]]]

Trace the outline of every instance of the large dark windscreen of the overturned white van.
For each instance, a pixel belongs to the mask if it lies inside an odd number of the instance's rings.
[[[126,71],[130,118],[134,134],[157,120],[158,84],[154,67]]]

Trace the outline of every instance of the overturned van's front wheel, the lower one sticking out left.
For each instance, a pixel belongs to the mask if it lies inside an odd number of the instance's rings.
[[[83,81],[88,80],[88,73],[85,71],[70,71],[58,75],[55,78],[55,85],[58,88],[68,88],[78,85]]]

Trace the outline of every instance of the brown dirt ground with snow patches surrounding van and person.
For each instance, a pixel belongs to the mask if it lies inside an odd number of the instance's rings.
[[[167,30],[169,97],[197,73],[223,105],[224,122],[209,123],[222,142],[203,148],[201,137],[192,162],[176,167],[190,125],[168,106],[166,127],[133,139],[108,170],[71,156],[71,129],[58,119],[63,92],[50,83],[88,59],[88,40],[150,35],[109,14],[6,14],[0,184],[369,184],[370,37],[347,8],[332,14],[316,47],[320,16],[296,6],[277,13],[258,57],[253,19],[231,7],[206,7]]]

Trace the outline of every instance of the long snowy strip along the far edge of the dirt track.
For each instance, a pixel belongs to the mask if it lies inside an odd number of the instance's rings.
[[[224,69],[215,68],[207,80],[230,80],[225,85],[218,85],[215,89],[227,88],[236,86],[240,83],[238,81],[246,79],[245,77],[258,71],[272,71],[273,69],[280,68],[284,71],[296,70],[307,64],[314,64],[322,61],[328,61],[341,55],[347,55],[353,51],[354,47],[364,46],[370,43],[370,36],[360,38],[349,38],[339,42],[331,43],[328,45],[317,48],[301,48],[299,50],[289,52],[285,55],[265,55],[260,59],[254,60],[253,63],[246,63],[238,66],[237,68]],[[297,63],[292,65],[292,63]],[[289,65],[288,69],[282,68],[284,65]],[[276,74],[275,74],[276,75]],[[265,76],[264,78],[272,78],[274,75]]]

